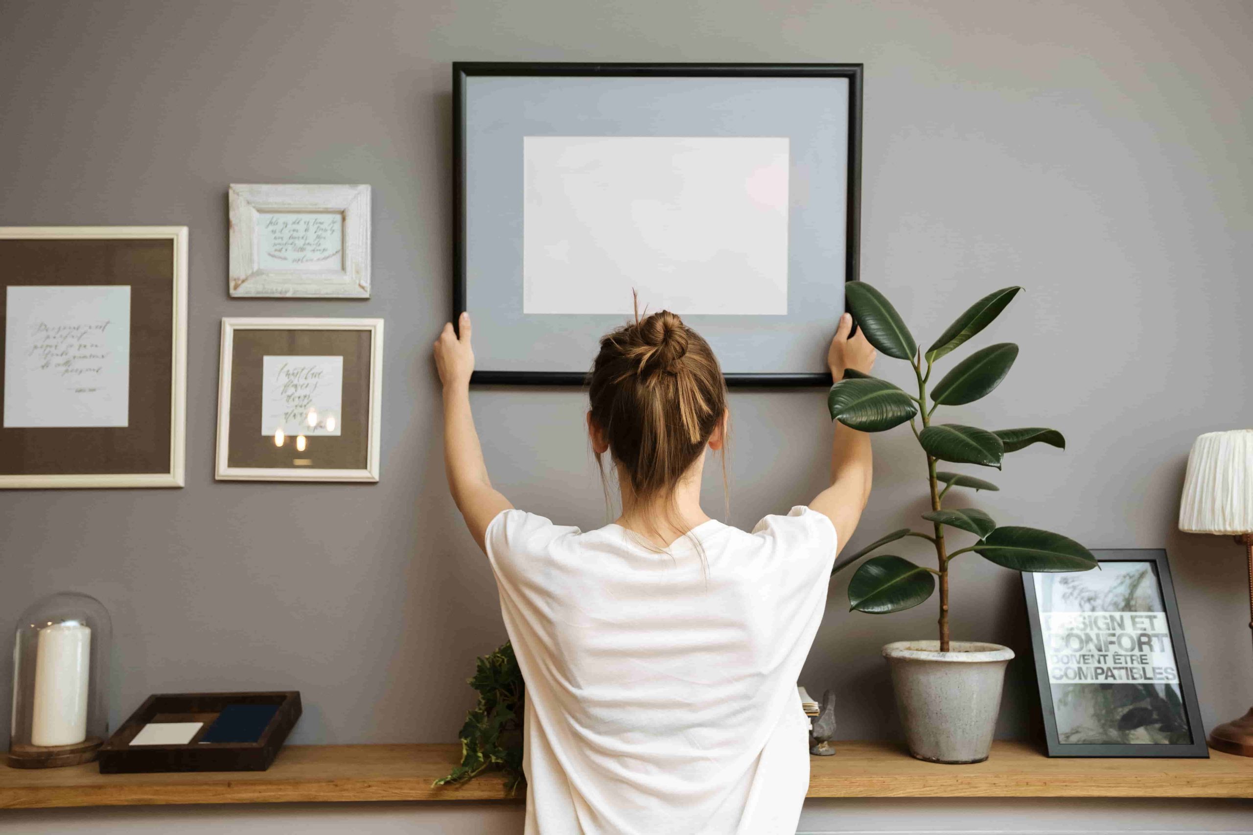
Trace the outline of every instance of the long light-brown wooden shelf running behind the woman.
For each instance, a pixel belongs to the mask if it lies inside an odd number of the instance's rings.
[[[935,765],[888,742],[837,742],[809,757],[811,797],[1253,797],[1253,757],[1049,759],[996,742],[979,765]],[[435,789],[459,745],[292,745],[268,771],[101,775],[95,764],[0,766],[0,809],[382,800],[509,800],[500,775]],[[515,802],[520,797],[512,799]]]

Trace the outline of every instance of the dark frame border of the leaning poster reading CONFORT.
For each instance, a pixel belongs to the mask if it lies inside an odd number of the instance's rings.
[[[1035,656],[1035,677],[1040,692],[1040,711],[1044,714],[1044,741],[1049,756],[1070,757],[1208,757],[1205,729],[1200,716],[1200,704],[1197,701],[1197,687],[1192,680],[1192,662],[1188,660],[1188,643],[1183,636],[1183,623],[1179,621],[1179,606],[1175,602],[1174,582],[1170,580],[1170,563],[1163,548],[1110,548],[1093,551],[1100,562],[1152,562],[1158,570],[1158,582],[1162,590],[1162,603],[1165,608],[1167,626],[1170,628],[1170,643],[1175,662],[1179,665],[1179,689],[1183,691],[1183,705],[1188,712],[1188,729],[1192,742],[1187,745],[1068,745],[1058,741],[1058,720],[1053,706],[1053,689],[1049,685],[1049,666],[1045,657],[1044,635],[1040,628],[1040,606],[1035,596],[1035,575],[1022,572],[1022,596],[1026,598],[1027,625],[1031,628],[1031,652]]]

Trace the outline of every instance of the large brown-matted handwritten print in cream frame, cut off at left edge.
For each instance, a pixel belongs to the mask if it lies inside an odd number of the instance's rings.
[[[0,488],[182,487],[187,227],[0,227]]]

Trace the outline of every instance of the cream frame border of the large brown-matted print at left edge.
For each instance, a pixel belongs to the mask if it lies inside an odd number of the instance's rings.
[[[187,462],[187,227],[0,227],[0,238],[164,239],[174,243],[174,337],[170,344],[169,472],[0,476],[0,488],[182,487]]]

